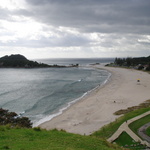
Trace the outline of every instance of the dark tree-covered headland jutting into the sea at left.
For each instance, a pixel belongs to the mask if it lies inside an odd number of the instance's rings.
[[[28,60],[25,56],[20,54],[6,55],[0,58],[0,68],[63,68],[63,67],[78,67],[78,64],[71,66],[59,66],[59,65],[48,65],[44,63],[38,63],[36,61]]]

